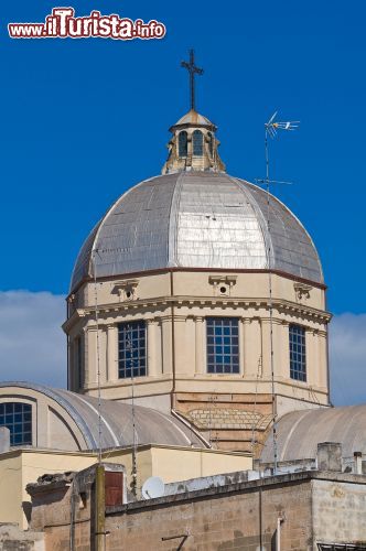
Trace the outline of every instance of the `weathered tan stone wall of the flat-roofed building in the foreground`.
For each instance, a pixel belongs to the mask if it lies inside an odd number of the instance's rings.
[[[45,551],[68,550],[71,495],[44,506]],[[93,549],[92,503],[75,517],[75,551]],[[106,551],[270,551],[279,518],[281,549],[315,551],[320,541],[366,542],[365,517],[366,477],[302,472],[109,507]]]

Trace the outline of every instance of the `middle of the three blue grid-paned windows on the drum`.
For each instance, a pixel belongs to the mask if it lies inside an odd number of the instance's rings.
[[[239,372],[239,320],[207,317],[207,372]]]

